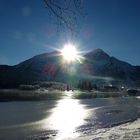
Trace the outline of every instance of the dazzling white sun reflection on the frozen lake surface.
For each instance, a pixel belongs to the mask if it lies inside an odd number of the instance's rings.
[[[63,99],[58,101],[57,107],[50,116],[51,129],[58,130],[57,140],[73,138],[76,128],[84,124],[84,106],[78,100]]]

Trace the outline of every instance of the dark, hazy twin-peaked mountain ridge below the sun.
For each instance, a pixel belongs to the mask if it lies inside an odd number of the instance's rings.
[[[140,85],[140,66],[132,66],[101,49],[84,56],[82,63],[65,63],[59,52],[34,56],[14,66],[0,65],[0,88],[15,88],[37,81],[56,81],[77,85],[79,80],[96,84]]]

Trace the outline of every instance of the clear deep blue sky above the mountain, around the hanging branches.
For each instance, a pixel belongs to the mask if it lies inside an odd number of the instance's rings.
[[[80,50],[101,48],[111,56],[140,65],[140,1],[85,0],[75,42]],[[14,65],[61,48],[68,34],[56,33],[43,0],[0,0],[0,64]]]

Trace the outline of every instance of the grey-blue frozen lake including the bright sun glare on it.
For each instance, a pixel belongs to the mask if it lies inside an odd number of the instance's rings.
[[[0,139],[78,139],[139,117],[134,97],[1,102]]]

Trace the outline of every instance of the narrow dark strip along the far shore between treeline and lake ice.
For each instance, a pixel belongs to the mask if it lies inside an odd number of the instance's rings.
[[[0,102],[10,101],[41,101],[41,100],[58,100],[62,96],[68,96],[69,93],[56,89],[37,89],[37,90],[20,90],[20,89],[0,89]],[[81,91],[74,90],[70,92],[73,99],[92,99],[92,98],[118,98],[118,97],[137,97],[129,96],[127,92],[103,92],[103,91]]]

